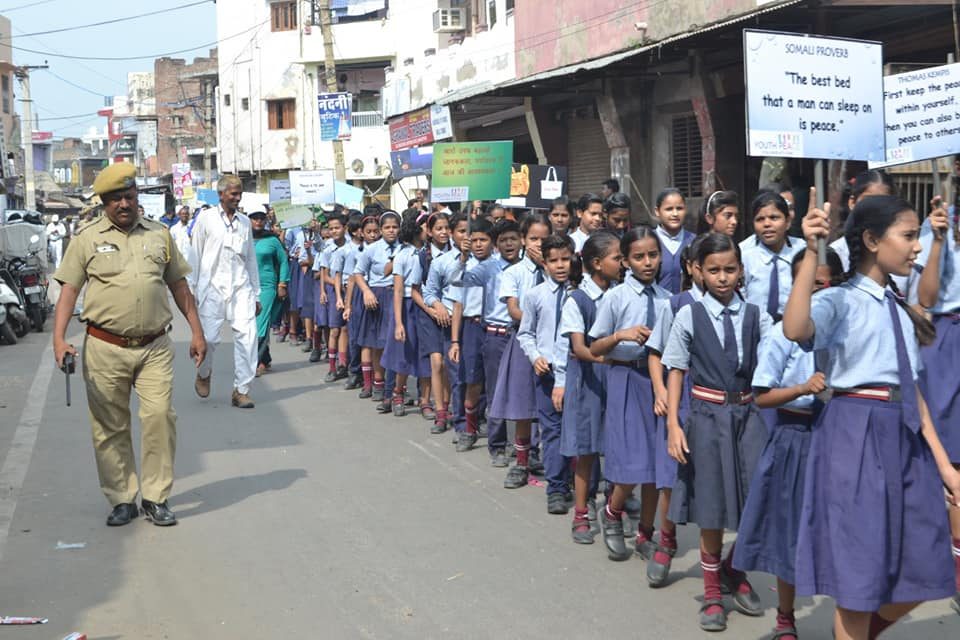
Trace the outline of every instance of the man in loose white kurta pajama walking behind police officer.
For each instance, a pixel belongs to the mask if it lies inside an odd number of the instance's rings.
[[[197,372],[197,395],[210,395],[213,353],[226,321],[233,330],[233,406],[252,409],[250,383],[257,367],[257,313],[260,276],[250,220],[237,213],[243,192],[240,180],[224,176],[220,206],[201,211],[191,236],[190,288],[197,299],[207,355]]]

